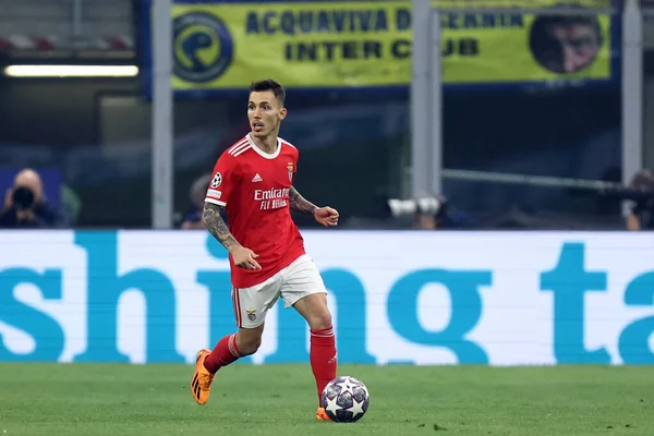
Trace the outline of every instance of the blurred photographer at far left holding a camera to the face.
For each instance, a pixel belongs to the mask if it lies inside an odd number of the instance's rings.
[[[0,227],[65,228],[70,227],[70,216],[62,207],[55,208],[48,203],[38,172],[24,169],[16,174],[13,187],[5,192]]]

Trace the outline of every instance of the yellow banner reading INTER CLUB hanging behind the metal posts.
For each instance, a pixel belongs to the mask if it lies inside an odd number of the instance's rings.
[[[411,80],[408,1],[174,4],[172,17],[174,89],[243,88],[265,77],[288,87]],[[608,15],[470,12],[441,14],[440,24],[445,83],[610,76]]]

